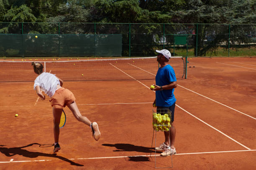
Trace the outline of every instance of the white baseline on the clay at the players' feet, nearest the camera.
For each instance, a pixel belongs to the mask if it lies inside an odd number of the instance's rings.
[[[252,152],[256,150],[228,150],[228,151],[215,151],[215,152],[200,152],[200,153],[177,153],[175,155],[195,155],[195,154],[209,154],[209,153],[236,153],[236,152]],[[92,159],[110,159],[110,158],[131,158],[131,157],[150,157],[150,155],[132,155],[132,156],[112,156],[112,157],[94,157],[94,158],[71,158],[67,160],[92,160]],[[151,155],[153,156],[160,156],[159,155]],[[168,158],[168,157],[167,157]],[[51,161],[51,160],[18,160],[18,161],[6,161],[0,163],[24,163],[24,162],[44,162],[44,161]]]

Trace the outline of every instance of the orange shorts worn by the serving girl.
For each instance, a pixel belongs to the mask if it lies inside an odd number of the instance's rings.
[[[70,105],[75,100],[76,98],[70,90],[61,87],[58,90],[56,90],[54,95],[51,97],[50,102],[51,107],[61,109],[63,107]]]

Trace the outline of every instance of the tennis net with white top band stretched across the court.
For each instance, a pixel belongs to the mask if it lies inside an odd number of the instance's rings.
[[[0,61],[0,82],[34,81],[32,61]],[[102,60],[38,61],[46,72],[64,81],[151,80],[158,70],[156,57],[117,58]],[[172,57],[169,64],[177,79],[184,78],[182,57]]]

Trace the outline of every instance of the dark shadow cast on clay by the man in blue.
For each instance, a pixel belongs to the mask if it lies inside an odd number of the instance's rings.
[[[136,145],[131,145],[128,143],[116,143],[116,144],[102,144],[103,146],[110,146],[110,147],[115,147],[117,150],[113,150],[113,152],[141,152],[141,153],[155,153],[154,148],[148,148],[144,146],[136,146]],[[162,153],[161,151],[156,151],[156,153]]]

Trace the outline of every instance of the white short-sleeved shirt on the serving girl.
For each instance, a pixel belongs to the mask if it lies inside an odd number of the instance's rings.
[[[59,79],[49,72],[41,73],[36,77],[34,82],[34,90],[36,90],[36,86],[39,85],[40,89],[49,97],[54,95],[57,85],[60,85]]]

